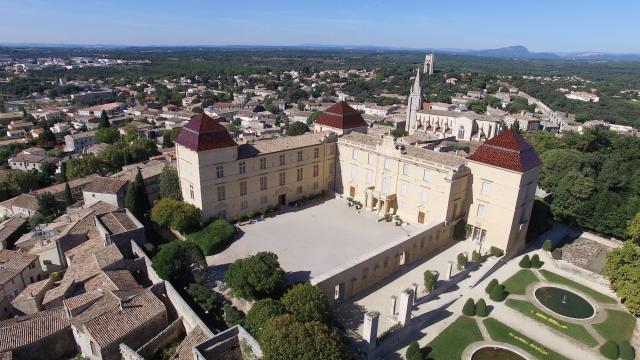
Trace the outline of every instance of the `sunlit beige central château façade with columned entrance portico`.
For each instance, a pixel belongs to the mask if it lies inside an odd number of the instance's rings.
[[[387,208],[374,198],[386,197],[388,212],[409,223],[452,221],[465,213],[470,174],[464,166],[410,157],[392,142],[372,148],[341,139],[338,152],[336,191],[360,201],[366,210],[384,215]]]

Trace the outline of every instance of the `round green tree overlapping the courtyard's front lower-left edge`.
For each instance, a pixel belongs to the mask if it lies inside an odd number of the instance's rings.
[[[224,280],[234,295],[250,300],[277,296],[286,284],[278,256],[271,252],[234,261]]]

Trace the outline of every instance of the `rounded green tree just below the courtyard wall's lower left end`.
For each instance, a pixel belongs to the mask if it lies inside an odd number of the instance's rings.
[[[309,283],[298,284],[282,297],[287,312],[301,322],[318,321],[330,324],[331,305],[320,288]]]

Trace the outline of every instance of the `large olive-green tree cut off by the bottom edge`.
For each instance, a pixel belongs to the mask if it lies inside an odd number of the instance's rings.
[[[335,332],[318,322],[298,322],[291,315],[269,320],[260,345],[264,360],[347,359],[344,344]]]

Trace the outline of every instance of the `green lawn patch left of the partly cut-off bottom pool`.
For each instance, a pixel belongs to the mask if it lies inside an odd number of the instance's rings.
[[[427,359],[460,359],[469,344],[482,340],[482,333],[476,321],[463,315],[433,339],[423,352],[426,353]]]

